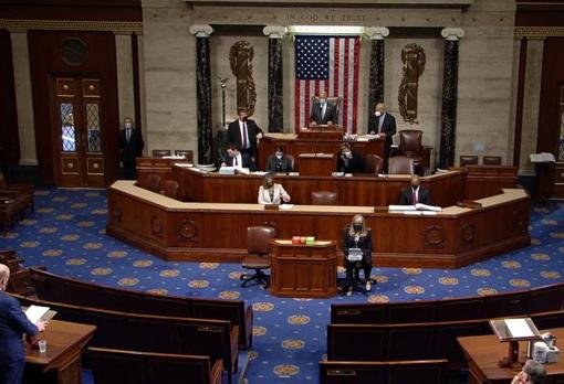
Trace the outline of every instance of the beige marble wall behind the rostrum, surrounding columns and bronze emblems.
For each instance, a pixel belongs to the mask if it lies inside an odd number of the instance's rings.
[[[146,87],[146,135],[148,148],[188,148],[196,151],[196,79],[195,36],[191,24],[348,24],[365,26],[431,26],[463,28],[460,41],[459,100],[457,153],[501,154],[504,162],[513,152],[510,126],[513,76],[513,0],[476,0],[462,8],[445,7],[417,10],[397,8],[306,8],[272,7],[190,7],[181,0],[143,0],[144,57]],[[244,34],[244,33],[242,33]],[[445,41],[437,38],[394,36],[386,39],[385,100],[398,122],[398,129],[418,128],[425,131],[424,143],[439,148]],[[257,85],[254,118],[268,128],[268,38],[253,35],[212,35],[211,73],[230,77],[227,93],[227,116],[234,111],[234,81],[229,67],[229,49],[238,40],[248,40],[255,49],[253,77]],[[401,79],[401,47],[420,44],[427,53],[427,64],[419,78],[418,125],[404,122],[398,113],[398,86]],[[284,129],[293,131],[294,53],[293,40],[284,38]],[[368,106],[367,82],[369,40],[363,41],[359,97],[359,129],[365,130]],[[213,128],[221,122],[219,81],[212,83]],[[436,153],[437,157],[437,153]]]

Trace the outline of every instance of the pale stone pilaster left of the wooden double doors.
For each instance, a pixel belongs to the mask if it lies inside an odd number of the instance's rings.
[[[35,122],[31,89],[30,54],[27,30],[10,30],[13,83],[20,140],[20,166],[36,166]]]

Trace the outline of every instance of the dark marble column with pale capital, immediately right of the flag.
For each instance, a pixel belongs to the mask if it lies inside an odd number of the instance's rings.
[[[374,26],[366,28],[365,33],[372,40],[368,79],[368,127],[373,127],[376,124],[374,106],[379,102],[384,102],[384,39],[389,35],[389,30],[385,26]]]

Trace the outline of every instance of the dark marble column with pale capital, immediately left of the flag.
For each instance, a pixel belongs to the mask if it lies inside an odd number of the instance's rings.
[[[282,132],[284,130],[282,39],[286,29],[282,25],[267,25],[262,32],[269,36],[269,132]]]

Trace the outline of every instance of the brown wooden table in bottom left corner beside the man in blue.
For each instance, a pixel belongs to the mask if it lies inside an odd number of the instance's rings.
[[[42,334],[48,341],[46,352],[28,345],[27,371],[34,376],[41,371],[41,383],[82,383],[81,354],[95,330],[94,326],[51,320]]]

